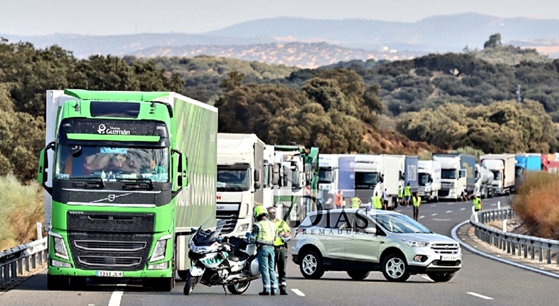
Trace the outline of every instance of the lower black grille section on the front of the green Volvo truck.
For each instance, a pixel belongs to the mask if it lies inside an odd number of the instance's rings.
[[[68,232],[77,269],[139,271],[144,269],[153,233]]]

